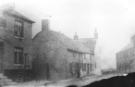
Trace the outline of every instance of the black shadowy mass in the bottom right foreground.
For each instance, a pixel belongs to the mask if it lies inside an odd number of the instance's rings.
[[[67,87],[78,86],[69,85]],[[109,79],[103,79],[81,87],[135,87],[135,73],[129,73],[126,76],[115,76]]]

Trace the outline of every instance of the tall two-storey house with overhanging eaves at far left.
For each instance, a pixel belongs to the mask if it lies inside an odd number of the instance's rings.
[[[0,10],[0,73],[9,78],[30,76],[33,23],[12,8]]]

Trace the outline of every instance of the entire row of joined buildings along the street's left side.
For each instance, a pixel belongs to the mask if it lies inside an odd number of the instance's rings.
[[[33,23],[15,9],[0,11],[0,73],[13,80],[94,74],[96,37],[79,39],[75,35],[73,40],[51,31],[49,21],[43,20],[42,31],[32,39]]]

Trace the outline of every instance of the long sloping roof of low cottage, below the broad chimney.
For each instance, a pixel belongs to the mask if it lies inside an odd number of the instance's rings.
[[[72,49],[78,52],[82,53],[90,53],[89,49],[84,46],[82,43],[79,41],[72,40],[65,36],[62,33],[55,32],[55,31],[48,31],[48,32],[39,32],[34,38],[42,38],[42,35],[44,36],[44,40],[57,40],[59,41],[62,45],[64,45],[67,49]]]

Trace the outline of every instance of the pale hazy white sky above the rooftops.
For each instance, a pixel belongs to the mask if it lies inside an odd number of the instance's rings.
[[[0,0],[12,3],[21,13],[37,23],[33,35],[41,30],[41,19],[51,16],[51,29],[72,38],[92,37],[99,33],[97,52],[102,68],[115,67],[115,53],[135,34],[134,0]]]

